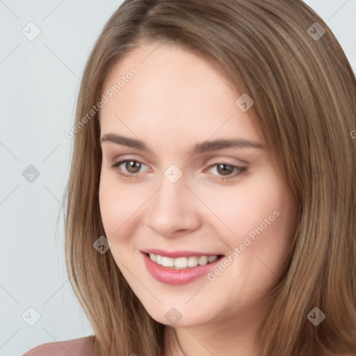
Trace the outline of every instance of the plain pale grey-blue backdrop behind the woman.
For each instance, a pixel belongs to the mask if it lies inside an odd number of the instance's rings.
[[[92,45],[121,2],[0,1],[0,356],[92,333],[65,271],[64,133]],[[356,0],[306,2],[356,72]]]

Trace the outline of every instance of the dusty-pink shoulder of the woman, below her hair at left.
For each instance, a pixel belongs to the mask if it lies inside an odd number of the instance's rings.
[[[95,337],[81,337],[67,341],[43,343],[23,356],[92,356]]]

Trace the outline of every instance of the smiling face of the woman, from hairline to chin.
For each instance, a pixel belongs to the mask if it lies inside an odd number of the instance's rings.
[[[297,211],[252,102],[167,44],[128,54],[104,95],[99,203],[131,289],[164,324],[247,316],[286,264]]]

